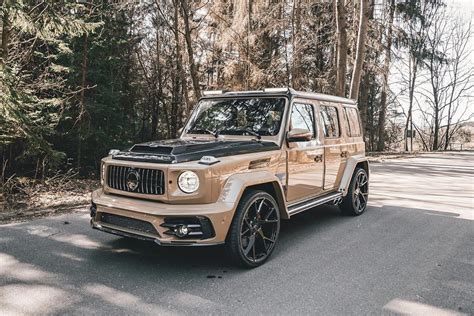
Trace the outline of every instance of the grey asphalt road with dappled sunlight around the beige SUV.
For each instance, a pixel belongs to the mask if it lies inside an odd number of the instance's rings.
[[[0,314],[474,314],[474,153],[371,166],[357,218],[283,224],[264,266],[90,229],[87,210],[0,226]]]

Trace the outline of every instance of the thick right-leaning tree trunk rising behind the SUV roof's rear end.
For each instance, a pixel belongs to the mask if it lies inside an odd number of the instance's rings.
[[[357,36],[356,57],[352,72],[350,98],[357,100],[359,96],[360,77],[365,58],[365,42],[367,38],[367,21],[369,19],[369,0],[360,1],[359,32]]]

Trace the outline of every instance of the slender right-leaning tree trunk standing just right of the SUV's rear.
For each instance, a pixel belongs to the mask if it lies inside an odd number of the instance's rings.
[[[388,94],[388,74],[390,72],[390,59],[392,54],[392,35],[393,35],[393,17],[395,15],[395,0],[389,3],[389,20],[387,31],[387,43],[385,45],[385,59],[383,65],[383,83],[382,93],[380,95],[380,113],[378,124],[378,143],[377,150],[385,149],[385,117],[387,113],[387,94]]]

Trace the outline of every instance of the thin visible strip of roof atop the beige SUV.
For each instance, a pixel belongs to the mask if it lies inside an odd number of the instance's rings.
[[[262,90],[250,90],[250,91],[225,91],[225,90],[204,91],[202,98],[215,99],[215,98],[229,98],[229,97],[238,97],[238,96],[285,96],[285,97],[290,97],[290,98],[299,97],[303,99],[313,99],[313,100],[319,100],[319,101],[343,103],[344,105],[357,106],[357,102],[355,100],[338,97],[334,95],[329,95],[329,94],[297,91],[292,88],[266,88]]]

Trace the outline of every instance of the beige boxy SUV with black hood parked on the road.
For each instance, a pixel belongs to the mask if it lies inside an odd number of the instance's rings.
[[[225,244],[268,259],[280,221],[326,203],[360,215],[369,166],[356,103],[298,92],[210,91],[181,136],[111,150],[93,192],[93,228],[163,246]]]

